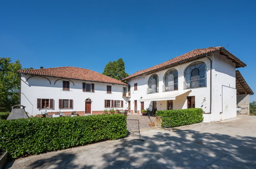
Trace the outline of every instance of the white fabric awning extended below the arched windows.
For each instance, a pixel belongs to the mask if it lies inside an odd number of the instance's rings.
[[[139,101],[162,101],[162,100],[175,100],[177,96],[180,96],[185,93],[189,93],[192,90],[183,90],[183,91],[171,91],[163,93],[152,93],[147,94],[144,98],[141,97]]]

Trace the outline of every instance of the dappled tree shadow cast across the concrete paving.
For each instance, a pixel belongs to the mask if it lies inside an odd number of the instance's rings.
[[[74,154],[64,152],[38,159],[29,168],[204,168],[212,163],[211,167],[222,168],[256,166],[254,137],[232,137],[177,129],[174,132],[152,132],[155,134],[143,136],[142,139],[129,137],[114,144],[103,142],[93,146],[93,151],[85,147],[81,151],[88,152],[86,157],[80,154],[77,156],[81,161],[89,158],[86,165],[79,164]],[[102,151],[103,147],[109,150]]]

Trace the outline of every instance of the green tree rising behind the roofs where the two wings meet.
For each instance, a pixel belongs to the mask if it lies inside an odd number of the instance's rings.
[[[108,62],[102,74],[115,78],[117,80],[122,80],[123,78],[129,76],[125,72],[125,63],[122,58],[116,61]]]

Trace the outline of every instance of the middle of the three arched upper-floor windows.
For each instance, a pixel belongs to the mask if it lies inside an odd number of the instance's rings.
[[[170,69],[164,76],[164,92],[178,90],[178,71]]]

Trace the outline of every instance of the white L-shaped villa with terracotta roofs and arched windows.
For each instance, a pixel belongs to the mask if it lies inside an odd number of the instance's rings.
[[[220,121],[237,116],[237,95],[248,99],[253,94],[245,81],[236,80],[236,69],[245,66],[225,48],[211,47],[174,57],[122,81],[74,67],[19,70],[21,104],[33,116],[95,115],[112,108],[132,114],[147,108],[153,112],[202,108],[204,122]]]

